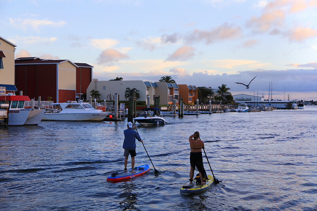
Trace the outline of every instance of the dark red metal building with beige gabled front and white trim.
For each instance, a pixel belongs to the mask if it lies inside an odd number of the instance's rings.
[[[30,99],[52,98],[54,102],[75,100],[76,68],[69,60],[24,57],[15,60],[15,85]]]

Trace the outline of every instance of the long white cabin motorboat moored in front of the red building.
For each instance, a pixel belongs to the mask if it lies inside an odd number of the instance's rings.
[[[44,113],[42,120],[51,121],[102,121],[111,112],[94,109],[89,103],[72,101],[70,103],[52,103]]]

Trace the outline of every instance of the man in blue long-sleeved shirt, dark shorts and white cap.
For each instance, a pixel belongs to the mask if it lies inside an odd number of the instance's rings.
[[[124,158],[124,172],[127,172],[126,170],[126,165],[128,163],[128,157],[129,154],[131,155],[131,173],[136,173],[133,168],[134,168],[134,157],[136,156],[135,153],[135,148],[136,148],[136,144],[135,144],[135,138],[138,139],[138,141],[143,143],[143,140],[140,138],[139,134],[134,131],[133,129],[135,129],[137,126],[134,126],[132,128],[132,122],[128,122],[127,125],[128,129],[124,130],[124,141],[123,141],[123,146],[122,148],[124,149],[124,154],[123,156]]]

